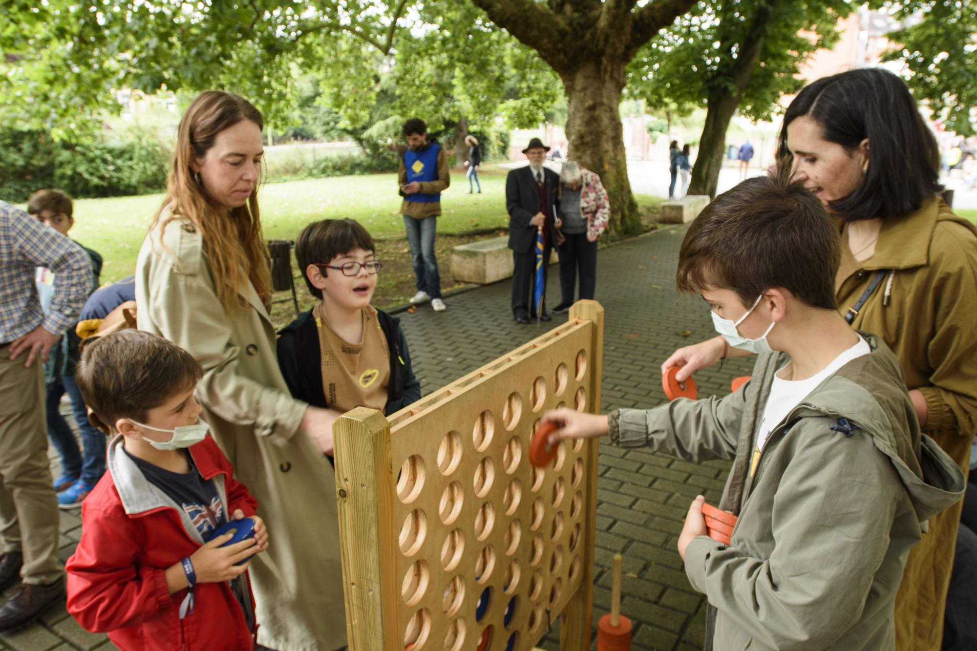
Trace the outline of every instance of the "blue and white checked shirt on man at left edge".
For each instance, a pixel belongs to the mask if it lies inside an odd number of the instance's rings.
[[[47,316],[34,282],[37,267],[55,273],[55,295]],[[0,201],[0,344],[38,325],[62,334],[78,320],[91,289],[92,263],[85,249]]]

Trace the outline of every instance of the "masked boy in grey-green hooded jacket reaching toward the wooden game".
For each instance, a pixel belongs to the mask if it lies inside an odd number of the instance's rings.
[[[839,243],[819,199],[749,179],[716,197],[679,253],[728,345],[759,353],[752,380],[718,399],[608,415],[549,412],[555,438],[609,434],[622,448],[733,461],[706,536],[703,498],[678,540],[709,602],[706,644],[724,649],[893,649],[909,549],[960,499],[956,463],[920,433],[893,353],[839,315]]]

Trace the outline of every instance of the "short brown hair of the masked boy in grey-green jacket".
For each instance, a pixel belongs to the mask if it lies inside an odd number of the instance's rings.
[[[783,287],[807,305],[837,309],[838,232],[821,199],[788,175],[746,179],[702,209],[679,249],[681,291],[731,289],[748,307]]]

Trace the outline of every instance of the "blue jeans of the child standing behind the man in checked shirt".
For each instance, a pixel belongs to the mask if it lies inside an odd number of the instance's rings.
[[[64,393],[71,400],[71,413],[81,432],[81,442],[84,446],[84,456],[78,450],[78,442],[74,433],[64,420],[58,406]],[[106,435],[95,429],[88,422],[88,409],[85,401],[74,383],[74,377],[64,375],[61,382],[48,384],[47,391],[48,438],[54,444],[58,454],[62,457],[62,468],[65,475],[80,475],[89,485],[94,485],[102,478],[106,471]]]

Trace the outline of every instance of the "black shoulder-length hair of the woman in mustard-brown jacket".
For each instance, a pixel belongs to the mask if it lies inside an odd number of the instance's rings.
[[[855,192],[830,209],[855,221],[898,217],[940,193],[940,151],[910,89],[887,70],[867,67],[818,79],[802,90],[784,115],[780,158],[792,167],[787,126],[802,115],[821,125],[822,137],[854,152],[869,140],[869,169]]]

